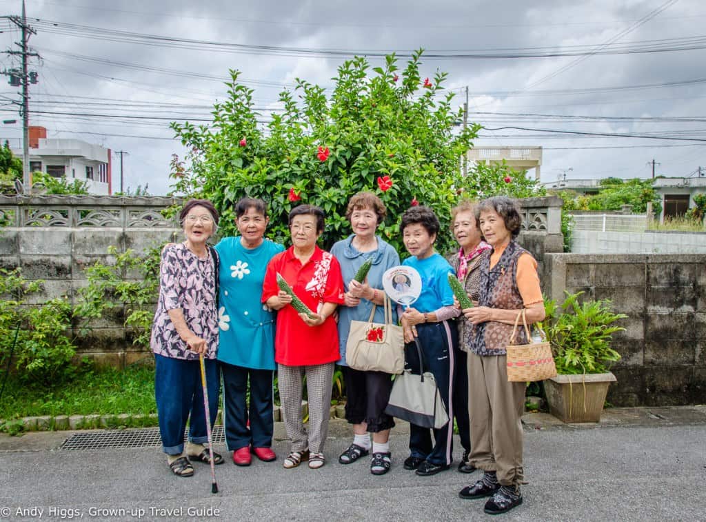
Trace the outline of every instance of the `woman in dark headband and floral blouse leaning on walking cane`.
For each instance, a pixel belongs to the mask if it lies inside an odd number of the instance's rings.
[[[181,210],[179,221],[186,240],[162,250],[160,297],[150,346],[155,353],[162,448],[172,473],[191,477],[191,461],[210,463],[200,355],[205,359],[211,425],[218,411],[217,254],[206,245],[216,230],[218,213],[210,201],[192,199]],[[184,453],[186,420],[189,441]],[[213,461],[221,464],[223,458],[214,452]]]

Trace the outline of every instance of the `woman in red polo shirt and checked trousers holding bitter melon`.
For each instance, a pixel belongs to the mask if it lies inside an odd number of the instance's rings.
[[[296,468],[309,456],[309,468],[325,463],[333,368],[338,360],[338,332],[333,317],[343,304],[343,281],[338,261],[316,246],[323,233],[323,210],[300,205],[289,213],[292,247],[277,254],[265,273],[262,301],[277,313],[275,361],[280,402],[290,451],[285,468]],[[277,273],[313,312],[300,314],[292,296],[277,285]],[[309,434],[301,419],[302,378],[309,396]]]

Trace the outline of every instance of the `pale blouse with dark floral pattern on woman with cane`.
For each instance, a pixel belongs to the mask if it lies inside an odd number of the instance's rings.
[[[175,359],[198,359],[169,319],[168,311],[181,309],[186,326],[208,343],[205,357],[215,359],[218,347],[218,312],[213,258],[199,259],[184,243],[169,244],[160,263],[160,299],[152,324],[152,352]]]

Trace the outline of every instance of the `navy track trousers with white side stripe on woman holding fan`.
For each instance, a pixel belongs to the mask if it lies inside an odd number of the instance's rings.
[[[414,424],[409,425],[410,455],[424,458],[432,464],[445,465],[453,461],[453,374],[455,367],[453,347],[457,340],[455,325],[448,321],[440,323],[417,324],[417,337],[421,343],[421,357],[424,359],[424,371],[431,372],[436,379],[441,400],[452,421],[441,429],[430,430]],[[406,366],[413,373],[419,373],[417,345],[405,345]],[[431,432],[434,444],[431,444]]]

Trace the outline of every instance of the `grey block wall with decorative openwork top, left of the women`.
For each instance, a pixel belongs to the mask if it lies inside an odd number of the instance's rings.
[[[20,267],[25,278],[42,279],[42,292],[28,302],[66,296],[73,304],[77,290],[87,285],[86,266],[114,262],[110,246],[119,252],[143,254],[173,241],[176,220],[161,210],[178,199],[109,196],[0,196],[0,268]],[[137,273],[126,273],[134,279]],[[116,308],[95,321],[88,336],[77,336],[80,355],[123,366],[144,357],[145,347],[132,343],[124,328],[124,309]],[[75,327],[78,325],[75,325]],[[77,333],[74,331],[73,333]]]

